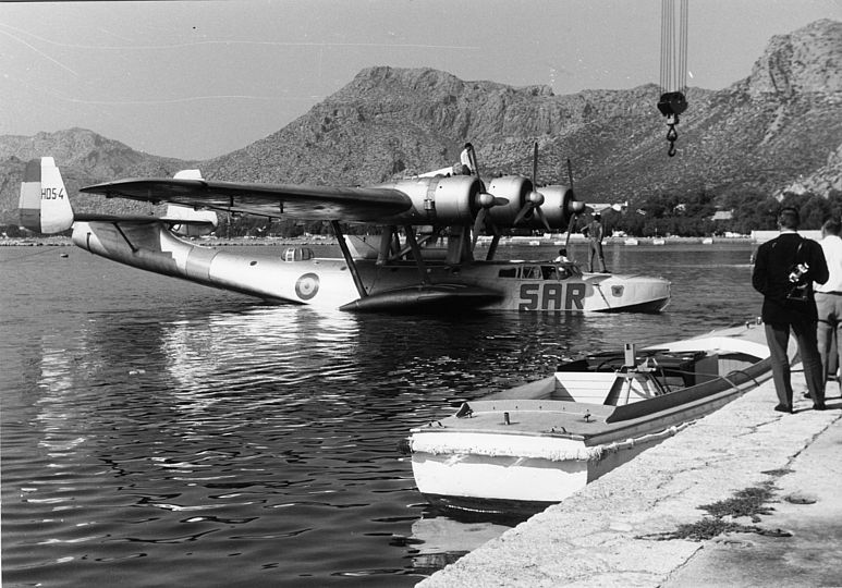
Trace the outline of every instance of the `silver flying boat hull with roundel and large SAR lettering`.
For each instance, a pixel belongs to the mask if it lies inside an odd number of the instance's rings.
[[[432,260],[420,283],[413,262],[355,260],[359,285],[343,258],[315,258],[306,248],[282,255],[195,245],[162,223],[76,222],[73,242],[139,269],[241,292],[269,302],[361,311],[477,308],[545,313],[657,313],[670,299],[660,278],[581,273],[575,264]]]

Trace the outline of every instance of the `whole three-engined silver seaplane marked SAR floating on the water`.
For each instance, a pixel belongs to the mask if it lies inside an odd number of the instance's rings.
[[[167,204],[160,217],[74,213],[53,158],[41,157],[25,169],[21,224],[42,234],[72,228],[73,243],[91,254],[268,303],[387,313],[662,310],[670,283],[661,278],[587,273],[566,260],[495,259],[503,230],[566,228],[570,238],[585,211],[572,186],[538,187],[537,152],[536,144],[532,177],[487,182],[466,144],[451,167],[373,186],[221,182],[185,170],[81,188]],[[218,213],[327,221],[342,257],[316,257],[308,247],[234,253],[191,241],[212,233]],[[351,238],[343,224],[352,223],[382,226],[382,234]],[[487,249],[477,247],[483,234]],[[485,259],[476,259],[483,249]]]

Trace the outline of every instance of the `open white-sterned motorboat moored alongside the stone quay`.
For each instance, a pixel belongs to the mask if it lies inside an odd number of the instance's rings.
[[[598,353],[412,429],[418,490],[439,506],[544,510],[771,377],[762,326]]]

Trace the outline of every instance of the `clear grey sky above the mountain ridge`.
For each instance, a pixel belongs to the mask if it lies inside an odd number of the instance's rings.
[[[687,83],[728,87],[819,19],[842,21],[842,0],[690,0]],[[80,126],[206,159],[373,65],[557,95],[657,84],[660,30],[661,0],[0,2],[0,135]]]

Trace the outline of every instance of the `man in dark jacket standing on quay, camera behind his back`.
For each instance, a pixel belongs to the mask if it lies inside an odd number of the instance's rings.
[[[798,211],[783,208],[778,215],[781,234],[757,250],[752,285],[764,295],[762,320],[772,360],[772,378],[778,393],[776,411],[792,413],[792,384],[786,346],[790,329],[795,333],[804,377],[813,407],[825,409],[825,378],[816,342],[818,315],[813,282],[828,281],[828,266],[821,246],[802,237]]]

